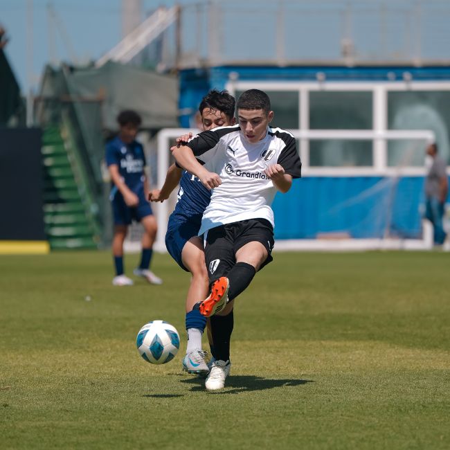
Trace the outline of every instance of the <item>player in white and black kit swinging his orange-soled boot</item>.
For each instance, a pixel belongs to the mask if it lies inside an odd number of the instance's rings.
[[[208,390],[223,388],[230,372],[233,301],[272,260],[273,198],[301,175],[294,136],[269,126],[273,111],[266,93],[242,93],[237,115],[239,125],[171,148],[179,165],[213,190],[199,230],[211,286],[199,311],[210,317],[217,359],[206,378]]]

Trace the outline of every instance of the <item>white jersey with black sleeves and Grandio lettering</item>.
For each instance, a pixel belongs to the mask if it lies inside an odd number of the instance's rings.
[[[246,219],[267,219],[274,225],[271,204],[276,187],[264,170],[278,163],[291,177],[301,176],[300,157],[292,134],[268,127],[261,141],[249,143],[240,126],[235,125],[200,133],[187,145],[210,172],[222,179],[222,184],[213,190],[199,235],[216,226]]]

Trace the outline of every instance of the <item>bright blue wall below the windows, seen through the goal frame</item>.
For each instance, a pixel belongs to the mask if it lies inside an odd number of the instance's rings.
[[[273,201],[277,239],[419,237],[423,177],[305,177]]]

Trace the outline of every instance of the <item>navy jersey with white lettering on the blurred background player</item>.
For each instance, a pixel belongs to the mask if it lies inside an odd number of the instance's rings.
[[[146,162],[141,143],[133,141],[125,144],[117,136],[106,145],[106,163],[108,166],[113,164],[118,166],[120,177],[133,192],[143,188]]]

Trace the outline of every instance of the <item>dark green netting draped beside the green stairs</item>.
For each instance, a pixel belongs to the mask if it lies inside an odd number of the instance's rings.
[[[104,244],[112,228],[109,183],[103,180],[101,170],[105,136],[116,132],[116,116],[123,109],[137,111],[143,129],[151,132],[177,127],[177,78],[113,62],[100,69],[46,67],[35,106],[36,119],[45,127],[48,143],[53,137],[57,140],[62,131],[66,151],[71,152],[78,168],[75,180],[85,212],[94,228],[102,229]],[[44,149],[44,158],[49,173],[64,177],[59,148]]]

